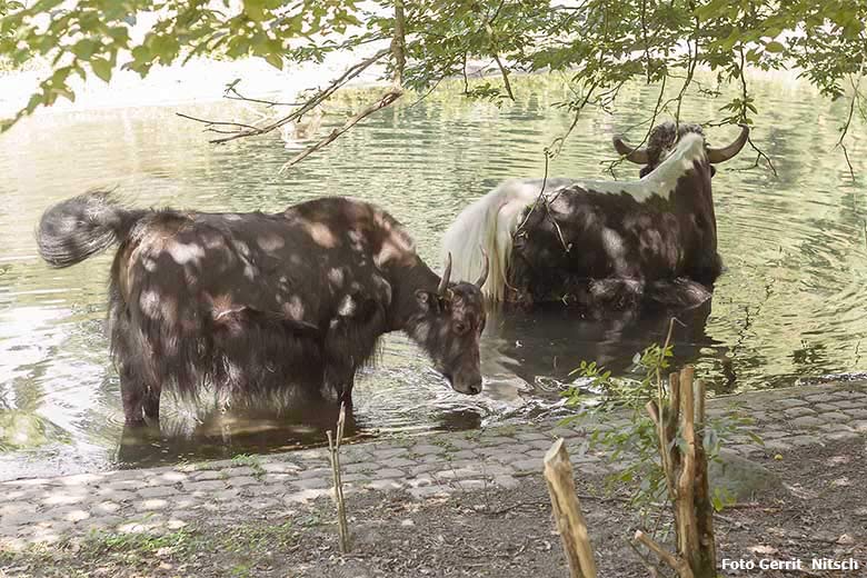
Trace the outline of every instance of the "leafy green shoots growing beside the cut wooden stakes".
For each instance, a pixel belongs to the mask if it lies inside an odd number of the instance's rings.
[[[568,406],[586,406],[582,412],[566,418],[564,422],[591,420],[592,430],[585,450],[606,451],[612,462],[625,460],[626,465],[619,471],[608,476],[606,486],[609,491],[624,484],[634,486],[635,492],[629,501],[642,516],[649,516],[666,499],[666,477],[659,462],[657,430],[646,406],[649,401],[659,403],[660,400],[662,407],[669,403],[668,383],[661,376],[667,375],[672,355],[671,346],[657,343],[636,353],[635,363],[642,373],[641,379],[612,378],[610,371],[597,363],[581,361],[572,375],[589,379],[585,387],[601,391],[601,403],[587,405],[589,399],[578,387],[564,392]],[[606,427],[611,419],[611,410],[621,410],[626,422]],[[718,459],[725,440],[739,434],[749,422],[749,419],[739,416],[707,419],[702,439],[708,459]],[[686,444],[679,431],[676,444]],[[717,510],[730,502],[729,497],[719,490],[714,492],[711,500]]]

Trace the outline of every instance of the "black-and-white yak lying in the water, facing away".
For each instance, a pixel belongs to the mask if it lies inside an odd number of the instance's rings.
[[[484,293],[522,308],[560,303],[604,315],[698,305],[722,268],[711,163],[737,155],[748,136],[743,127],[714,149],[699,126],[667,122],[647,148],[617,137],[617,150],[645,165],[640,180],[506,181],[457,217],[442,251],[465,277],[481,270],[472,248],[482,247],[490,256]]]

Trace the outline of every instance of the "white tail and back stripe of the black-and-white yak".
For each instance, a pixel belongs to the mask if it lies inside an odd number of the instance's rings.
[[[550,197],[561,187],[577,185],[588,191],[602,195],[626,193],[638,202],[651,197],[668,200],[696,160],[705,158],[705,140],[700,134],[687,133],[674,151],[656,170],[637,181],[589,181],[548,179],[545,195]],[[481,273],[484,257],[488,253],[490,271],[482,293],[494,301],[501,301],[506,292],[506,272],[511,258],[512,235],[528,205],[539,197],[542,179],[512,179],[464,209],[442,237],[441,257],[451,253],[454,280],[474,281]]]

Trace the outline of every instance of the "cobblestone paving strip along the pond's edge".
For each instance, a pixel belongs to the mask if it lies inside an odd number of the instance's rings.
[[[867,383],[838,383],[721,397],[708,405],[721,415],[734,406],[756,419],[731,440],[744,456],[783,454],[823,440],[867,436]],[[405,489],[416,498],[489,486],[505,488],[538,475],[555,437],[575,440],[589,428],[552,422],[484,431],[426,435],[341,449],[346,492]],[[578,471],[606,469],[604,455],[572,457]],[[0,550],[57,542],[92,530],[170,531],[201,516],[292,507],[330,492],[326,449],[293,451],[176,467],[24,479],[0,484]]]

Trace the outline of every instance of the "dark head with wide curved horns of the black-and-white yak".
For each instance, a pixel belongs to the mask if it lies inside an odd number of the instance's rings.
[[[749,139],[749,128],[746,124],[741,124],[740,134],[728,147],[716,149],[707,146],[705,141],[705,150],[707,152],[707,160],[711,163],[710,175],[711,177],[716,172],[712,165],[717,162],[725,162],[735,157],[744,144]],[[650,134],[647,137],[647,146],[636,148],[626,142],[622,137],[614,138],[614,146],[621,156],[627,160],[637,165],[644,165],[640,170],[641,177],[648,175],[656,169],[666,158],[675,150],[677,141],[688,133],[696,132],[705,137],[705,132],[699,124],[675,124],[671,121],[662,122],[661,124],[654,127]]]

